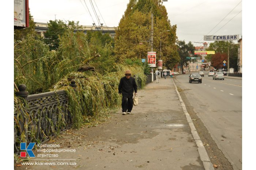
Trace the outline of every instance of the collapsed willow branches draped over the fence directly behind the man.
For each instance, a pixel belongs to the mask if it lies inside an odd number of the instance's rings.
[[[68,110],[72,113],[73,126],[79,128],[84,122],[99,120],[110,110],[120,106],[121,95],[118,94],[118,84],[124,76],[123,70],[130,69],[136,75],[140,87],[146,85],[146,76],[138,65],[124,66],[119,64],[117,72],[102,75],[97,72],[71,72],[57,82],[53,90],[65,90],[69,96]],[[69,86],[75,80],[75,90]]]

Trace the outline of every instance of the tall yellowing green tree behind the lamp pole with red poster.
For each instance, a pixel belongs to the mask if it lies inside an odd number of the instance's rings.
[[[130,0],[120,20],[115,36],[115,56],[118,61],[143,59],[150,51],[151,12],[154,14],[154,51],[160,54],[162,41],[163,67],[172,69],[179,62],[176,49],[176,25],[171,25],[164,5],[159,0]],[[167,31],[169,30],[169,31]],[[158,58],[159,59],[159,58]]]

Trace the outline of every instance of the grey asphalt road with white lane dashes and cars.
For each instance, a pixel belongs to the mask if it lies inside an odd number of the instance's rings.
[[[213,80],[204,72],[202,84],[188,76],[174,79],[234,170],[242,169],[242,80]]]

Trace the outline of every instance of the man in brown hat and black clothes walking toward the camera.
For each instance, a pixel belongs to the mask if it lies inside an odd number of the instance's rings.
[[[137,84],[135,82],[135,79],[131,77],[131,70],[125,71],[125,76],[120,79],[120,83],[118,86],[118,93],[123,95],[122,98],[122,112],[123,115],[131,114],[132,111],[132,97],[133,97],[133,91],[135,92],[135,95],[137,94]]]

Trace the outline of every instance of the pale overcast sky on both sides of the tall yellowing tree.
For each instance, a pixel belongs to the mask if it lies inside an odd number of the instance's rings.
[[[91,1],[100,22],[109,27],[118,26],[129,2],[129,0]],[[178,39],[188,43],[189,41],[204,42],[203,35],[239,35],[241,38],[242,2],[240,2],[241,0],[169,0],[163,4],[171,24],[177,24]],[[90,0],[29,0],[29,7],[36,22],[47,23],[56,17],[57,20],[79,21],[81,25],[92,25],[92,23],[98,25]],[[234,42],[237,43],[237,41]],[[202,46],[201,43],[193,44]]]

